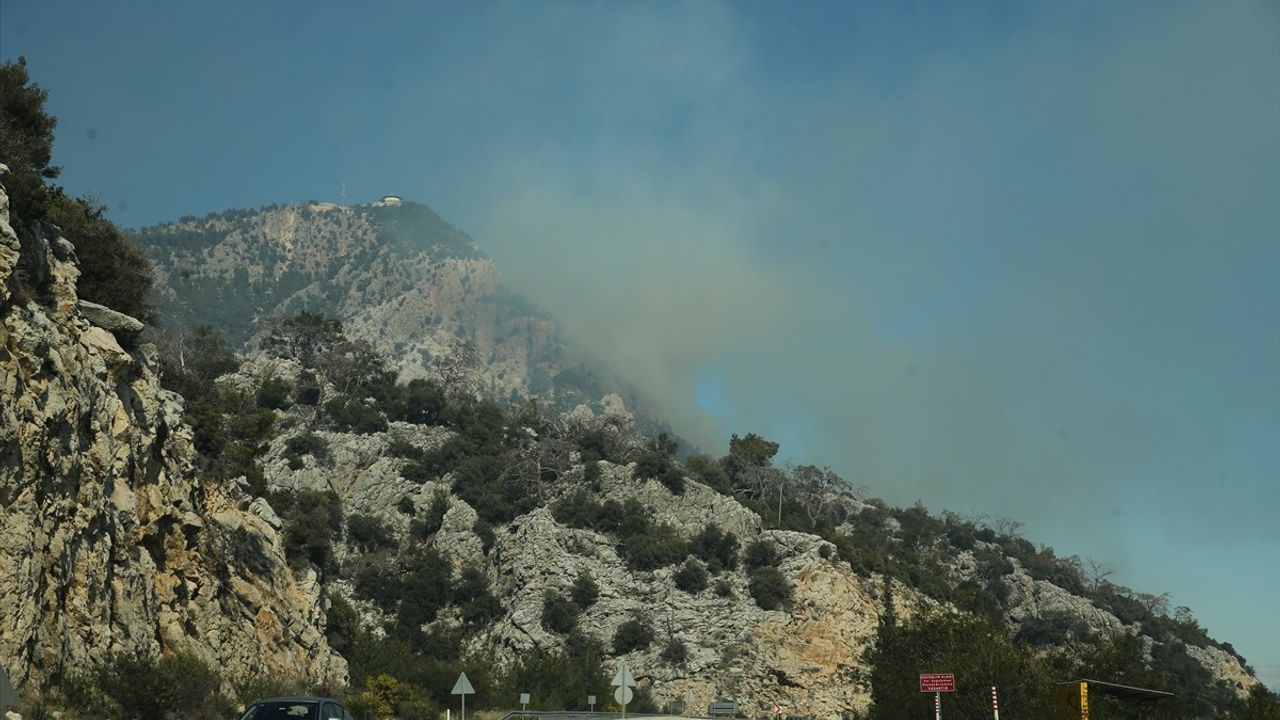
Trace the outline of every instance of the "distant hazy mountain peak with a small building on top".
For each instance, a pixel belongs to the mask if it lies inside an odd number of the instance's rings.
[[[474,240],[428,206],[310,202],[227,211],[131,234],[155,263],[172,328],[209,324],[233,345],[301,310],[343,322],[408,379],[457,360],[499,400],[572,407],[620,392],[657,427],[634,388],[572,347],[556,322],[503,286]]]

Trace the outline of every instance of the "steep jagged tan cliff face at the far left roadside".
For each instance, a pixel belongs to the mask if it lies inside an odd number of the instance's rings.
[[[193,473],[183,401],[160,388],[155,350],[133,345],[128,318],[82,310],[77,275],[56,228],[19,241],[0,191],[0,657],[10,678],[32,687],[114,652],[187,651],[230,676],[343,680],[314,575],[294,577],[250,498]]]

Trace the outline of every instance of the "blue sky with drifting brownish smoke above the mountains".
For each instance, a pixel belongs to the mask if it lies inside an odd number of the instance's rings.
[[[398,192],[721,450],[1010,516],[1280,685],[1280,17],[6,0],[142,225]]]

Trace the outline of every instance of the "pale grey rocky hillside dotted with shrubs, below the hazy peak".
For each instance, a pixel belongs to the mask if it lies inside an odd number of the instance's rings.
[[[298,387],[306,373],[292,359],[259,354],[218,382],[248,396],[273,384]],[[864,651],[886,611],[886,587],[904,621],[938,611],[978,614],[1048,653],[1085,637],[1134,635],[1148,660],[1169,652],[1189,657],[1199,682],[1226,696],[1257,684],[1229,646],[1180,639],[1193,637],[1193,623],[1169,630],[1171,621],[1138,607],[1134,593],[1105,582],[1084,588],[1070,559],[1056,560],[1014,536],[929,518],[919,507],[887,509],[838,482],[812,491],[804,501],[812,514],[787,505],[783,524],[812,530],[777,528],[773,511],[762,516],[751,495],[783,477],[786,492],[800,495],[812,469],[759,466],[724,484],[717,468],[732,461],[655,461],[654,443],[635,434],[616,396],[600,402],[608,407],[603,414],[582,406],[535,418],[512,409],[500,460],[477,475],[466,459],[431,460],[476,434],[466,423],[390,420],[356,432],[326,416],[335,393],[329,386],[316,402],[275,402],[282,432],[260,464],[268,496],[315,492],[340,501],[346,529],[333,536],[328,592],[356,610],[366,632],[388,638],[410,632],[398,623],[408,596],[388,591],[381,578],[416,573],[412,559],[425,548],[448,564],[445,582],[479,575],[495,598],[483,612],[468,607],[474,597],[440,600],[416,616],[425,637],[461,637],[465,653],[509,667],[581,634],[605,648],[607,666],[626,661],[660,705],[692,692],[695,708],[735,698],[750,716],[768,715],[774,703],[815,717],[865,710]],[[654,462],[666,469],[646,468]],[[527,502],[506,503],[511,488]],[[620,514],[612,520],[611,501]],[[709,532],[732,536],[731,556],[708,559]],[[754,587],[762,562],[750,560],[750,546],[759,543],[776,553],[764,564],[790,588],[787,603],[765,609]],[[640,544],[680,550],[658,556]],[[878,557],[895,566],[890,578],[872,569],[883,561]],[[682,578],[689,566],[707,579]],[[581,603],[568,632],[549,614],[557,611],[554,598],[572,597],[584,577],[598,585],[598,597]],[[620,632],[637,619],[653,638],[620,650]]]

